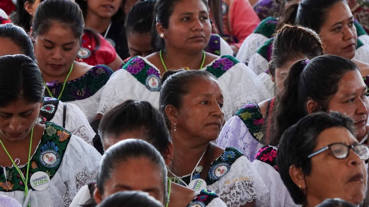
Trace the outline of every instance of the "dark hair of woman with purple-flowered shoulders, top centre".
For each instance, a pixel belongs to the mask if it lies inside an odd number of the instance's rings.
[[[165,48],[165,43],[162,38],[160,38],[158,31],[156,31],[156,23],[161,23],[165,29],[169,27],[169,18],[173,14],[174,7],[176,4],[182,0],[157,0],[154,7],[154,18],[152,22],[152,34],[151,34],[151,44],[154,50],[157,52]],[[208,0],[201,0],[209,9]]]

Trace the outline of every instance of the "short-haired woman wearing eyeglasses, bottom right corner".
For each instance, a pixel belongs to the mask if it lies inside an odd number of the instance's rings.
[[[336,197],[362,203],[369,146],[358,143],[354,123],[337,112],[313,113],[283,133],[277,165],[295,203],[316,206]]]

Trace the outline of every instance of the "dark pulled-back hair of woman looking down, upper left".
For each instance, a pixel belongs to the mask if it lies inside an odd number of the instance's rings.
[[[78,4],[70,0],[45,0],[37,7],[33,19],[32,36],[35,38],[39,34],[44,34],[51,27],[53,21],[67,25],[72,29],[73,35],[81,38],[83,35],[82,11]]]

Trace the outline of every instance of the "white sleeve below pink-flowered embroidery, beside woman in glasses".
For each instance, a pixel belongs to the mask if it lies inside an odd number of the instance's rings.
[[[257,207],[297,207],[293,202],[287,187],[284,185],[279,173],[265,162],[255,160],[252,166],[268,187],[268,194],[256,200]]]

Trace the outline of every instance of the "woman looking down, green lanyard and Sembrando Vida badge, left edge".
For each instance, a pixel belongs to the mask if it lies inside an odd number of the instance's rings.
[[[0,94],[0,194],[31,206],[69,206],[93,180],[101,155],[62,127],[36,122],[45,86],[29,57],[1,56],[0,69],[7,88]]]

